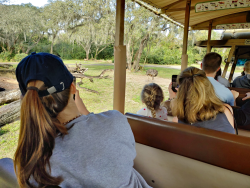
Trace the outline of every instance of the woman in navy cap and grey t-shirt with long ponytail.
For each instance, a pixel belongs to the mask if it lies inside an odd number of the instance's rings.
[[[135,140],[126,117],[89,113],[59,57],[32,53],[16,77],[23,95],[14,157],[21,188],[149,187],[133,169]]]

